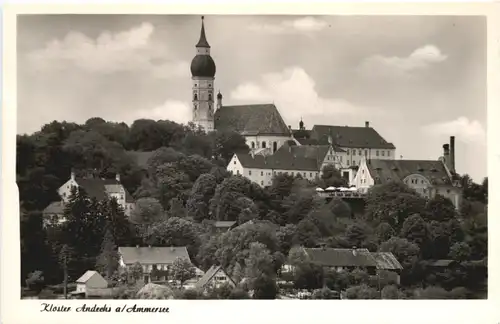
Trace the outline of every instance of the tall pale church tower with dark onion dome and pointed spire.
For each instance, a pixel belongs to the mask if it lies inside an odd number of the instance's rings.
[[[214,130],[215,62],[210,56],[203,16],[200,40],[196,44],[196,56],[191,61],[191,76],[193,123],[208,133]]]

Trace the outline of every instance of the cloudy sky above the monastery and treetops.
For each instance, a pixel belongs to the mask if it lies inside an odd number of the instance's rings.
[[[18,16],[18,133],[53,120],[191,119],[194,15]],[[486,174],[486,19],[205,16],[223,104],[274,103],[285,122],[370,122],[404,159]]]

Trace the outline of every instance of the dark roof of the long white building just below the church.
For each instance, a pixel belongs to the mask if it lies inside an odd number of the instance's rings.
[[[329,148],[329,145],[283,145],[270,156],[239,153],[237,157],[245,168],[319,171]],[[333,148],[336,152],[344,151],[340,147]]]

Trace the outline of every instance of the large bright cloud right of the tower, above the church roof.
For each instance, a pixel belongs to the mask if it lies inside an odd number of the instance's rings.
[[[368,109],[343,99],[322,98],[316,92],[314,80],[301,67],[286,68],[281,73],[265,74],[258,82],[243,83],[231,92],[231,99],[245,103],[274,102],[281,107],[283,117],[295,120],[306,116],[316,120],[353,116]]]

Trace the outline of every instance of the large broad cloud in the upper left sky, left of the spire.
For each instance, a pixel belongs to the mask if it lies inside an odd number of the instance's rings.
[[[168,50],[152,40],[154,30],[152,24],[142,23],[118,33],[104,31],[95,39],[71,31],[63,39],[54,39],[28,53],[27,59],[32,68],[42,71],[76,67],[99,74],[147,71],[158,78],[179,75],[180,66],[185,69],[187,63],[166,59]]]

